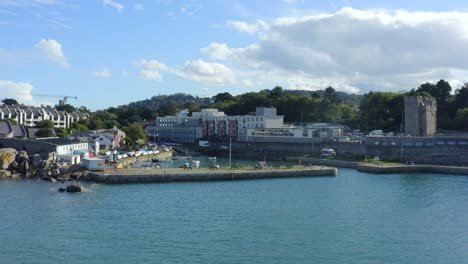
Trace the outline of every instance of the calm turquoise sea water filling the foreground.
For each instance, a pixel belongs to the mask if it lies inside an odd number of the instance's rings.
[[[0,263],[468,263],[468,177],[0,181]]]

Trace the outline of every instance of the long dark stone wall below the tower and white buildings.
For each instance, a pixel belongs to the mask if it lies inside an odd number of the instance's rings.
[[[393,140],[393,141],[392,141]],[[352,142],[328,142],[328,143],[268,143],[268,142],[233,142],[232,155],[247,156],[263,160],[277,159],[284,160],[285,156],[297,155],[306,157],[308,155],[319,155],[324,148],[332,148],[338,156],[350,158],[379,157],[394,161],[413,161],[418,164],[438,164],[452,166],[468,166],[468,144],[460,145],[445,140],[439,145],[439,141],[427,142],[419,138],[406,139],[403,144],[398,142],[398,138],[373,139],[366,144]],[[410,141],[413,140],[413,141]],[[442,141],[441,141],[442,142]],[[210,147],[204,149],[207,152],[221,153],[228,155],[228,149],[221,149],[226,146],[225,142],[210,142]]]

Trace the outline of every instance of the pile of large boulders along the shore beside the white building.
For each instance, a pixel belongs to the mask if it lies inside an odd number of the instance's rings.
[[[0,179],[39,179],[49,182],[89,181],[89,172],[81,165],[68,165],[56,160],[57,155],[44,159],[39,154],[13,148],[0,149]]]

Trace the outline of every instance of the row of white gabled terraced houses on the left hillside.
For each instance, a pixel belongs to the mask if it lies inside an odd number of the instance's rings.
[[[0,120],[13,119],[19,125],[33,127],[37,122],[43,120],[51,120],[54,122],[55,128],[70,128],[71,124],[79,120],[88,118],[89,115],[84,112],[58,111],[51,107],[34,107],[34,106],[0,106]]]

